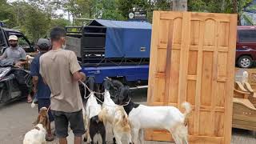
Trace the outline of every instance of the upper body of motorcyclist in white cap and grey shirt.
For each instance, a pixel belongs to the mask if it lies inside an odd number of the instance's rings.
[[[23,50],[21,46],[18,46],[18,37],[16,35],[10,35],[8,40],[9,40],[10,46],[5,50],[2,56],[0,56],[0,60],[5,58],[13,59],[15,61],[16,67],[21,67],[25,65],[26,51]]]

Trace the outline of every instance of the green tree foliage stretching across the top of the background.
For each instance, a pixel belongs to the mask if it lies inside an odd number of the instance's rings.
[[[6,22],[10,28],[22,30],[32,41],[46,37],[52,26],[67,26],[70,22],[55,10],[64,10],[74,18],[102,18],[111,20],[127,20],[133,7],[147,11],[151,22],[154,10],[170,10],[171,0],[0,0],[0,21]],[[188,0],[189,11],[212,13],[237,13],[244,17],[244,7],[252,0]],[[255,6],[248,9],[256,10]],[[83,22],[75,22],[82,25]]]

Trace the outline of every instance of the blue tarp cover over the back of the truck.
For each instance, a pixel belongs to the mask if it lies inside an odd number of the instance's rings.
[[[149,22],[96,19],[90,26],[106,26],[105,58],[150,58]]]

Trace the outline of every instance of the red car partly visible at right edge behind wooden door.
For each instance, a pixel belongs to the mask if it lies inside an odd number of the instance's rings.
[[[236,64],[250,68],[256,61],[256,26],[238,26]]]

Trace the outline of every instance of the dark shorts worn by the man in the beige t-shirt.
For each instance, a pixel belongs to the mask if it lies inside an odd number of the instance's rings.
[[[55,132],[58,138],[68,136],[68,126],[73,130],[75,137],[81,137],[86,130],[83,124],[82,110],[73,113],[51,110],[54,115]]]

